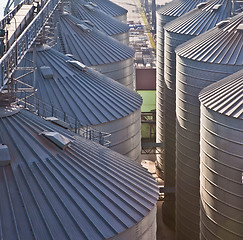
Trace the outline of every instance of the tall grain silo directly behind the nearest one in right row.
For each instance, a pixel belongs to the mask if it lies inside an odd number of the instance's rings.
[[[199,100],[204,87],[242,69],[243,13],[176,49],[176,226],[199,238]]]

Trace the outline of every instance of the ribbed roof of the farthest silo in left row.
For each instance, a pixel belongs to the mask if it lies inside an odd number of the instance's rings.
[[[85,0],[86,2],[91,2],[96,4],[102,11],[113,17],[121,16],[127,14],[127,9],[111,2],[109,0]]]

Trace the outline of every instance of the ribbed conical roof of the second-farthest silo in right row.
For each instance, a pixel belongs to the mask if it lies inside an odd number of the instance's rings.
[[[219,8],[217,8],[219,7]],[[195,8],[165,25],[165,30],[178,34],[199,35],[213,28],[216,23],[231,16],[232,2],[212,0],[203,7]]]

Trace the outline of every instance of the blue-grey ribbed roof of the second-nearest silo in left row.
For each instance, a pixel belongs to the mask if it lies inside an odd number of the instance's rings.
[[[27,53],[21,66],[30,66],[32,52]],[[125,117],[141,107],[136,92],[86,67],[79,70],[67,61],[71,58],[44,47],[37,49],[37,96],[51,106],[77,118],[84,125],[97,125]],[[53,78],[45,79],[40,67],[49,66]],[[18,71],[21,74],[20,71]],[[33,85],[29,74],[23,82]]]

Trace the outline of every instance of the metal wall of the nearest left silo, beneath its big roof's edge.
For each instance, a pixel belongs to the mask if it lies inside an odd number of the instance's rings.
[[[110,238],[110,240],[156,240],[156,212],[157,207],[155,205],[150,213],[145,216],[139,223],[137,223],[132,228],[129,228],[127,231],[116,235],[114,238]]]

